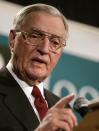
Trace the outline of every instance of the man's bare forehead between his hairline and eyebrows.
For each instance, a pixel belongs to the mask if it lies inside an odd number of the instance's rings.
[[[66,30],[62,19],[43,11],[31,12],[24,18],[21,29],[29,31],[32,27],[36,27],[51,34],[58,34],[62,37],[66,36]]]

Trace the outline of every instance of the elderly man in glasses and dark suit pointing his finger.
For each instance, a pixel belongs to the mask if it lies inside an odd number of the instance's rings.
[[[68,105],[74,94],[60,100],[43,87],[67,33],[66,18],[52,6],[30,5],[17,13],[9,33],[11,59],[0,71],[0,131],[71,131],[77,125]]]

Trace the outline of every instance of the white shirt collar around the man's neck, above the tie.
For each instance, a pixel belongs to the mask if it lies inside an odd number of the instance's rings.
[[[26,96],[29,98],[29,96],[31,95],[31,92],[33,90],[33,86],[28,85],[25,81],[18,78],[18,76],[13,72],[13,65],[11,63],[11,60],[9,61],[9,63],[7,64],[6,67],[7,67],[8,71],[11,73],[11,75],[14,77],[14,79],[17,81],[17,83],[20,85],[20,87],[22,88],[22,90],[24,91]],[[36,86],[39,88],[42,96],[44,96],[43,82],[36,85]]]

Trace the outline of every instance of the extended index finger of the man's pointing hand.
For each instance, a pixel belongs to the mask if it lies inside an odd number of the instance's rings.
[[[65,96],[64,98],[60,99],[54,107],[56,108],[64,108],[71,100],[73,100],[75,97],[74,93],[71,93],[68,96]]]

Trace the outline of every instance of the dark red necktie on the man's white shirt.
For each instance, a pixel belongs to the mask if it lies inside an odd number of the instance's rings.
[[[48,110],[46,102],[37,86],[33,87],[32,95],[35,97],[34,105],[39,113],[40,119],[42,120]]]

